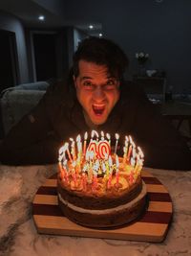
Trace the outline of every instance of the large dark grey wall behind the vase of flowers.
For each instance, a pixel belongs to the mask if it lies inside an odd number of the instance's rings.
[[[191,1],[68,0],[66,8],[70,19],[102,23],[103,35],[129,56],[130,77],[138,68],[136,52],[145,51],[149,68],[166,71],[167,86],[191,93]]]

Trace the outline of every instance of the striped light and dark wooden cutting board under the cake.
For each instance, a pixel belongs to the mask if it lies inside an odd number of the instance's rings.
[[[80,226],[63,216],[57,205],[56,174],[46,180],[32,202],[32,216],[42,234],[162,242],[173,215],[172,200],[159,179],[142,171],[149,205],[138,221],[116,229],[93,229]]]

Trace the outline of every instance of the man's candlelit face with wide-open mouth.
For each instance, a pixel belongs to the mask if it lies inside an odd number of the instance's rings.
[[[105,65],[80,60],[74,84],[86,120],[94,125],[104,124],[119,98],[118,79],[108,74]]]

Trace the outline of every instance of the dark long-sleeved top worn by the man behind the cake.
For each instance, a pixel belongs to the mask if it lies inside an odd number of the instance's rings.
[[[132,135],[144,152],[147,167],[191,170],[191,151],[180,133],[131,82],[121,86],[117,105],[98,130],[113,137],[119,133],[120,145],[125,135]],[[39,104],[11,128],[0,146],[0,161],[10,165],[55,163],[62,143],[85,131],[91,130],[74,93],[67,92],[63,83],[51,85]]]

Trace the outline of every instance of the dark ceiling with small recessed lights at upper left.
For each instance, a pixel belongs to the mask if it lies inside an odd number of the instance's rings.
[[[56,1],[59,5],[61,4],[60,9],[62,10],[58,10],[59,6],[57,10],[55,8],[52,9],[50,6],[51,1],[42,0],[0,0],[0,10],[10,12],[28,28],[53,29],[63,26],[74,26],[89,35],[99,35],[102,32],[101,23],[66,19],[64,17],[64,12],[66,12],[64,3],[66,1],[53,0],[51,2],[54,5],[53,7],[55,7]],[[44,15],[45,20],[38,20],[39,15]],[[67,16],[69,16],[68,13]],[[90,29],[89,25],[93,25],[94,28]]]

